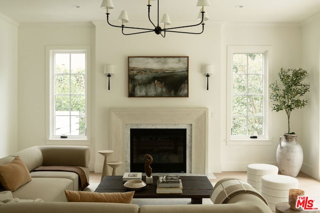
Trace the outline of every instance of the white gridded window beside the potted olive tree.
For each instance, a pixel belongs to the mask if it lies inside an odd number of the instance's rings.
[[[228,139],[267,139],[267,73],[267,47],[228,47]]]

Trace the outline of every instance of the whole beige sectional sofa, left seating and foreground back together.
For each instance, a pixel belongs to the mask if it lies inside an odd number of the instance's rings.
[[[32,180],[12,192],[13,198],[32,199],[0,204],[0,213],[271,213],[265,199],[246,182],[223,179],[215,184],[214,205],[142,205],[66,202],[64,190],[76,190],[76,178],[66,173],[32,172],[41,165],[71,165],[82,168],[88,177],[89,151],[85,147],[40,146],[19,155]],[[0,159],[0,164],[14,157]],[[78,183],[77,183],[78,184]],[[78,185],[77,185],[78,186]],[[225,193],[227,192],[227,194]],[[38,202],[40,198],[44,202]],[[35,200],[34,200],[35,199]]]

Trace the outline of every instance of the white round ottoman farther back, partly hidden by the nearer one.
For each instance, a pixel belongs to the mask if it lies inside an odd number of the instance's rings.
[[[277,175],[278,168],[270,164],[249,164],[247,166],[246,182],[259,193],[261,192],[261,177],[264,175]]]

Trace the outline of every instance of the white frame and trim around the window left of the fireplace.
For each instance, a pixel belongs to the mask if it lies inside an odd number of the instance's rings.
[[[61,138],[54,133],[54,53],[85,53],[85,126],[86,134],[81,136],[67,136]],[[90,70],[91,52],[90,46],[46,46],[46,141],[53,141],[53,144],[61,140],[83,141],[88,144],[90,140]]]

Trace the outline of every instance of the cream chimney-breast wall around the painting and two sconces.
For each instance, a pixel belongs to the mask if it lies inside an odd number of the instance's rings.
[[[165,38],[152,33],[124,36],[118,28],[105,21],[94,22],[96,28],[96,77],[95,77],[95,137],[96,152],[108,149],[108,108],[115,107],[207,107],[209,114],[208,171],[220,171],[220,26],[205,24],[201,35],[167,33]],[[135,23],[131,23],[135,25]],[[149,23],[145,23],[147,25]],[[183,23],[181,23],[183,24]],[[189,56],[188,98],[128,98],[127,56]],[[103,65],[114,64],[115,74],[103,75]],[[215,73],[206,77],[201,66],[213,64]],[[118,160],[116,154],[109,157]],[[102,156],[96,157],[95,170],[99,171]]]

